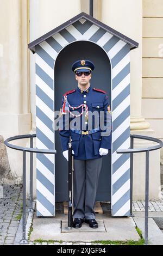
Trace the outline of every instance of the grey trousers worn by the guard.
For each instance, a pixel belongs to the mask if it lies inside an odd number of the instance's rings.
[[[73,203],[74,218],[95,218],[95,205],[98,178],[102,168],[102,159],[75,160],[74,159],[74,182]]]

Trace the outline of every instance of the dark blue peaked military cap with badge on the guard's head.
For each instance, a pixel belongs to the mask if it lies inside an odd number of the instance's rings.
[[[91,62],[90,60],[87,60],[87,59],[77,60],[77,62],[74,62],[72,64],[73,72],[92,71],[93,69],[95,69],[95,65],[93,64],[93,62]]]

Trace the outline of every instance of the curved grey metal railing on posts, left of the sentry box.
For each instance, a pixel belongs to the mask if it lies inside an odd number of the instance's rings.
[[[30,174],[29,174],[29,209],[28,212],[34,212],[33,209],[33,153],[41,154],[56,154],[56,150],[53,149],[35,149],[33,148],[33,138],[36,137],[36,134],[33,135],[20,135],[15,137],[10,137],[4,141],[4,144],[11,148],[23,151],[23,217],[22,217],[22,240],[20,244],[27,244],[28,240],[26,239],[26,152],[30,152]],[[10,141],[15,141],[16,139],[25,139],[30,138],[30,148],[23,148],[17,145],[10,144]]]

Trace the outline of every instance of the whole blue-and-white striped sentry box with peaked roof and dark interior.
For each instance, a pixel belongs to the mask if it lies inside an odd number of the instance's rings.
[[[110,201],[112,216],[130,215],[130,50],[138,43],[80,13],[28,45],[35,53],[36,147],[57,154],[36,156],[37,216],[55,216],[55,202],[68,198],[67,161],[62,156],[54,111],[62,95],[77,87],[71,65],[78,59],[95,63],[91,86],[108,93],[112,110],[112,147],[103,158],[96,200]]]

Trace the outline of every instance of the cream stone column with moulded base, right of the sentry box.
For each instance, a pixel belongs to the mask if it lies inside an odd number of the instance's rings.
[[[131,134],[155,137],[149,123],[142,117],[142,0],[103,0],[102,22],[139,42],[139,48],[130,52],[130,130]],[[154,145],[135,139],[134,148]],[[150,198],[157,199],[160,190],[160,150],[150,153]],[[145,196],[145,153],[134,155],[134,198]]]

